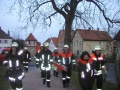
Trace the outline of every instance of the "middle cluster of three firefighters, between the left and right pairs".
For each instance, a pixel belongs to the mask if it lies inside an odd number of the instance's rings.
[[[54,52],[51,52],[48,48],[49,43],[44,43],[42,50],[35,55],[36,66],[41,69],[43,84],[47,83],[47,87],[50,87],[51,68],[53,66],[53,75],[58,77],[58,70],[61,69],[63,87],[69,87],[72,63],[75,63],[74,55],[69,50],[68,45],[64,45],[62,53],[59,53],[57,48],[54,49]],[[54,63],[57,66],[54,66]]]

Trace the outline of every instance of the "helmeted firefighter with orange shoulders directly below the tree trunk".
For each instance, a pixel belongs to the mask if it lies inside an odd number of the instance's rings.
[[[69,87],[72,64],[75,63],[74,55],[69,50],[68,45],[64,45],[63,52],[61,53],[62,57],[62,65],[67,68],[66,70],[62,70],[62,80],[63,80],[63,88]]]

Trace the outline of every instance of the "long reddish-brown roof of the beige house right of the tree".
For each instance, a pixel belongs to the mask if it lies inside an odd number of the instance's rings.
[[[112,38],[105,31],[77,29],[83,40],[107,41]]]

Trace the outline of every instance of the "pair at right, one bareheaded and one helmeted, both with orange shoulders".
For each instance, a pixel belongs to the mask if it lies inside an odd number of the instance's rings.
[[[92,90],[96,79],[97,90],[102,90],[103,70],[107,73],[100,46],[95,46],[91,55],[84,51],[78,58],[78,77],[81,88]]]

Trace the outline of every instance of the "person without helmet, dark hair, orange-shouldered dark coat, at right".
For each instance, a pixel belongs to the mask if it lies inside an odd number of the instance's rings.
[[[94,64],[87,51],[78,58],[78,78],[82,90],[92,90],[94,84]]]

